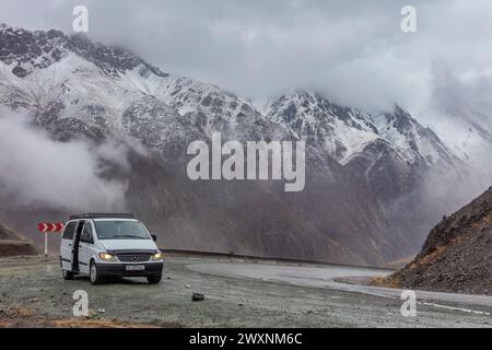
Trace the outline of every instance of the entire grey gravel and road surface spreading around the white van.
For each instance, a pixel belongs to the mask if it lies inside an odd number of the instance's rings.
[[[164,268],[157,285],[91,285],[62,280],[56,258],[0,259],[0,327],[492,327],[487,298],[418,292],[418,316],[403,317],[399,291],[353,284],[384,270],[180,256],[167,257]],[[90,317],[72,316],[75,290],[87,292]],[[204,301],[191,301],[194,292]]]

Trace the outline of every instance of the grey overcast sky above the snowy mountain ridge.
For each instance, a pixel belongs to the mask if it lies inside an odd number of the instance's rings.
[[[257,102],[312,88],[364,108],[490,107],[489,0],[0,0],[0,22],[71,33],[75,4],[93,39]],[[400,30],[406,4],[417,33]]]

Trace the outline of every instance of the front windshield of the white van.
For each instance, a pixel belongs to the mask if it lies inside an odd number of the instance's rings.
[[[139,221],[95,221],[99,240],[151,240]]]

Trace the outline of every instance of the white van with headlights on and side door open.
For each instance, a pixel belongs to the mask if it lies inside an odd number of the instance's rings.
[[[61,235],[63,278],[85,275],[97,284],[105,277],[147,277],[159,283],[163,255],[155,240],[132,214],[72,215]]]

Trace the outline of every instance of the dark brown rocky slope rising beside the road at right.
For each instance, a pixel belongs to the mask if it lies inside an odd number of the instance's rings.
[[[405,288],[492,295],[492,187],[437,224],[390,280]]]

